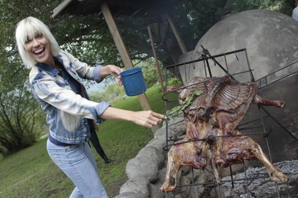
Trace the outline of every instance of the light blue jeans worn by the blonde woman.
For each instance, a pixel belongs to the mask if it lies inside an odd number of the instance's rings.
[[[88,143],[61,147],[48,139],[47,150],[53,162],[76,185],[70,198],[108,198]]]

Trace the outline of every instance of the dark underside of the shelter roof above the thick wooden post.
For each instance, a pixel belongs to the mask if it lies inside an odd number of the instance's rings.
[[[52,17],[86,16],[100,13],[102,0],[64,0],[53,10]],[[174,7],[179,0],[109,0],[106,1],[113,15],[147,16],[164,13],[168,8]]]

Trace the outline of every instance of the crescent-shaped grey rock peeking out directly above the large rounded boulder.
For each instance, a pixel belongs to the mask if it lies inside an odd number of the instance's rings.
[[[165,157],[163,156],[161,150],[158,150],[155,147],[144,147],[142,148],[137,157],[146,156],[148,159],[155,158],[158,162],[159,169],[162,169],[165,163]]]

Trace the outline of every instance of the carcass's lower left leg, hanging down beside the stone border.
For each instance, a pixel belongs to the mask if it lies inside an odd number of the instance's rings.
[[[178,142],[182,141],[183,140]],[[192,166],[196,169],[203,169],[206,166],[206,158],[200,158],[197,154],[201,152],[202,149],[198,149],[196,144],[195,142],[188,142],[171,147],[168,152],[166,178],[160,188],[161,191],[171,191],[176,188],[177,173],[181,166]],[[172,177],[175,179],[174,185],[171,185]]]

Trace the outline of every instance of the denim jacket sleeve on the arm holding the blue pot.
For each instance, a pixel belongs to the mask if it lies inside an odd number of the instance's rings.
[[[97,65],[96,67],[90,67],[87,63],[80,62],[79,59],[75,58],[73,55],[62,51],[65,55],[69,57],[69,62],[72,64],[80,78],[93,80],[97,83],[102,82],[104,79],[100,78],[100,68],[102,65]]]

